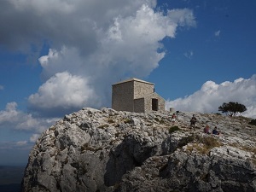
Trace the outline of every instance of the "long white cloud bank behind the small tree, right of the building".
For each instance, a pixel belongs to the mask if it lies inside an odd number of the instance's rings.
[[[201,113],[218,112],[224,102],[239,102],[247,107],[242,115],[256,119],[256,74],[250,79],[236,79],[216,84],[207,81],[194,94],[166,101],[166,108]]]

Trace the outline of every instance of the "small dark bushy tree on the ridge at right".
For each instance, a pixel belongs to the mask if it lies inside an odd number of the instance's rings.
[[[218,107],[218,111],[221,111],[222,113],[226,113],[229,116],[236,116],[239,113],[242,113],[246,111],[247,108],[238,102],[224,102],[222,106]]]

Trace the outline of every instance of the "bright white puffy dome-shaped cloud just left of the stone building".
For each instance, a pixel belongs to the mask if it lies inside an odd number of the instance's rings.
[[[90,88],[88,79],[67,72],[56,73],[29,96],[30,108],[48,112],[98,105],[98,97]]]

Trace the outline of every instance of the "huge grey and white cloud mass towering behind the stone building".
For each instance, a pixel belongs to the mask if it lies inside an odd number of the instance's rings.
[[[1,44],[29,55],[38,54],[43,44],[50,47],[38,60],[43,84],[28,97],[30,112],[41,116],[110,107],[111,84],[148,76],[166,54],[161,40],[175,38],[177,27],[195,26],[190,9],[163,13],[155,9],[155,0],[10,0],[1,5]]]

